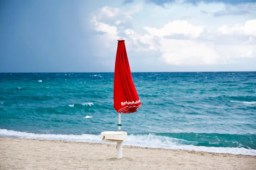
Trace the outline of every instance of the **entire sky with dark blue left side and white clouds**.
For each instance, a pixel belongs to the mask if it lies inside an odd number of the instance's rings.
[[[0,72],[256,71],[256,0],[1,0]]]

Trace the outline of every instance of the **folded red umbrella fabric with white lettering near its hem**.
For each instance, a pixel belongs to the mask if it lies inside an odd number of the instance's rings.
[[[118,40],[114,74],[114,108],[118,113],[134,113],[141,102],[131,76],[125,40]]]

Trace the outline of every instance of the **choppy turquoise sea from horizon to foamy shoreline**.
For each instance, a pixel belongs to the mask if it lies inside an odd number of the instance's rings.
[[[0,136],[103,143],[113,73],[0,73]],[[132,73],[124,145],[256,155],[256,72]],[[115,143],[112,143],[115,144]]]

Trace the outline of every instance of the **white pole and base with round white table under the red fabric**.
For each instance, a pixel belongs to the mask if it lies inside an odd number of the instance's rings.
[[[118,124],[121,125],[121,113],[118,115]],[[118,126],[118,131],[105,131],[100,133],[100,136],[104,142],[116,142],[116,158],[122,158],[122,142],[127,140],[127,133],[121,131],[121,126]]]

